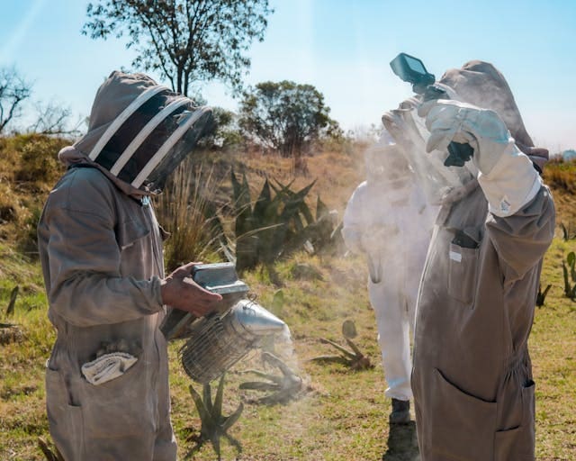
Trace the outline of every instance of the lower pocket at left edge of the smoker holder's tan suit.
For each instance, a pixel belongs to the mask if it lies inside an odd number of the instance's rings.
[[[67,385],[60,372],[46,368],[46,411],[49,430],[64,459],[82,459],[84,428],[82,411],[69,402]]]

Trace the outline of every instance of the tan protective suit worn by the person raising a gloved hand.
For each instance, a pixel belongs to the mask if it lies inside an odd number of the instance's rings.
[[[470,63],[441,82],[466,102],[497,111],[499,101],[516,108],[497,71],[489,77],[500,83],[496,103],[490,103],[486,87],[481,97],[471,96],[487,68],[493,69]],[[506,115],[517,145],[533,146],[518,109]],[[499,217],[488,212],[489,186],[474,179],[446,194],[428,249],[412,373],[422,461],[535,456],[535,384],[527,340],[542,258],[554,237],[554,203],[545,185],[538,185],[518,212]]]

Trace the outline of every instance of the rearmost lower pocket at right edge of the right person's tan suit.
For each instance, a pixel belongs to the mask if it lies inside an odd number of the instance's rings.
[[[522,387],[522,422],[518,428],[499,430],[494,436],[494,461],[534,461],[535,387],[530,381]]]

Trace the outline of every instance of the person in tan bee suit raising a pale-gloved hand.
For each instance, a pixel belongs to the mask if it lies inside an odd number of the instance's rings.
[[[532,147],[491,64],[469,62],[440,83],[464,102],[420,105],[426,150],[469,143],[477,179],[444,194],[419,288],[412,389],[421,460],[534,460],[527,339],[554,236],[553,199],[537,171],[547,152]]]

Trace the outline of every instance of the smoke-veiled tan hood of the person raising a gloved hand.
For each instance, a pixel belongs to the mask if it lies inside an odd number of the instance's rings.
[[[538,167],[544,167],[548,151],[534,147],[506,78],[491,63],[467,62],[462,68],[446,71],[439,82],[454,89],[465,103],[498,113],[518,148]]]

